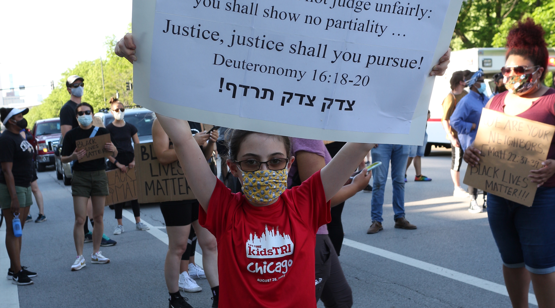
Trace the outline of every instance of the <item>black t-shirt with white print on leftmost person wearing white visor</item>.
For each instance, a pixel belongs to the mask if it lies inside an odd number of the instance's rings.
[[[12,174],[16,186],[29,187],[33,179],[33,146],[19,134],[5,130],[0,135],[0,162],[12,162]],[[4,172],[0,183],[7,184]]]

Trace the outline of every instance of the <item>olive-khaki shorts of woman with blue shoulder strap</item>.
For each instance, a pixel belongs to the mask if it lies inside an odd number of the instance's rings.
[[[108,176],[106,171],[73,171],[71,179],[72,196],[108,196]]]

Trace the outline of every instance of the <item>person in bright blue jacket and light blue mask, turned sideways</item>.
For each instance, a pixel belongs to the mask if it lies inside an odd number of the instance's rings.
[[[486,96],[486,83],[483,78],[483,71],[479,69],[466,82],[471,91],[458,102],[455,111],[451,115],[450,124],[458,133],[458,140],[461,143],[462,150],[465,151],[471,146],[476,138],[476,131],[480,123],[482,108],[486,106],[488,97]],[[471,194],[470,207],[468,212],[480,213],[486,211],[486,193],[484,193],[484,204],[478,206],[476,197],[478,189],[468,186],[468,192]]]

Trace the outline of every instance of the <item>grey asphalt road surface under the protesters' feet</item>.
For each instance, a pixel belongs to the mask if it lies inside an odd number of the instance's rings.
[[[345,238],[504,285],[501,258],[487,214],[470,214],[467,199],[448,197],[453,192],[449,153],[433,151],[435,156],[422,159],[422,173],[431,177],[431,182],[413,182],[412,166],[407,172],[406,218],[418,229],[393,228],[391,179],[388,179],[384,230],[366,234],[371,223],[371,194],[360,192],[345,205],[342,219]],[[464,171],[463,168],[461,174]],[[118,241],[114,247],[101,248],[110,263],[88,262],[82,270],[69,270],[75,259],[70,187],[58,181],[54,171],[38,176],[48,220],[40,224],[28,223],[24,229],[22,264],[37,271],[38,276],[33,278],[33,285],[18,286],[19,306],[167,307],[168,292],[163,273],[167,245],[148,232],[135,230],[134,223],[126,218],[123,219],[125,232],[112,235],[117,222],[114,211],[108,207],[104,212],[105,233]],[[31,213],[36,218],[35,205]],[[164,227],[157,206],[143,206],[141,217],[153,226]],[[160,230],[165,232],[164,228]],[[199,248],[198,251],[201,253]],[[92,243],[85,243],[85,258],[90,253]],[[341,250],[340,260],[353,291],[354,307],[511,306],[508,297],[497,292],[347,245]],[[197,281],[203,291],[184,296],[194,307],[210,307],[208,282],[205,279]],[[323,307],[321,302],[319,307]]]

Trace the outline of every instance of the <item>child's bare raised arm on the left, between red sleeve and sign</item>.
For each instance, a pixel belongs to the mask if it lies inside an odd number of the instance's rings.
[[[203,152],[196,143],[189,123],[185,120],[173,119],[171,117],[156,114],[160,125],[173,142],[175,153],[185,177],[200,206],[208,212],[208,203],[216,187],[216,177],[210,170]]]

